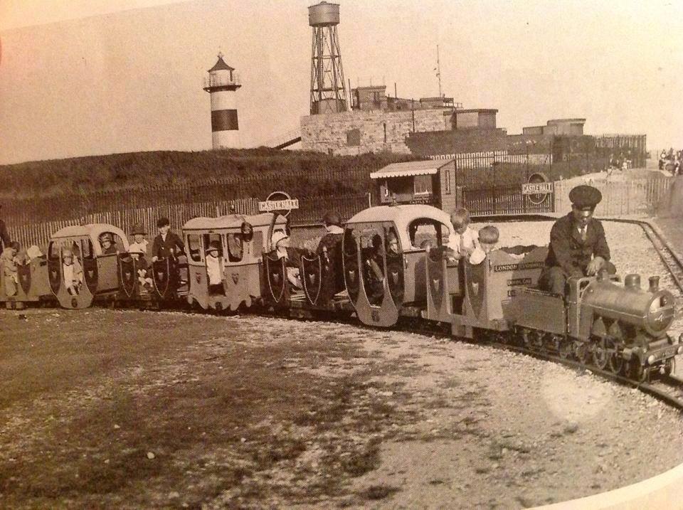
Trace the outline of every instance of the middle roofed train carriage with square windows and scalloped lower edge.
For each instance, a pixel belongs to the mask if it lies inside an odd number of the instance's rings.
[[[263,213],[193,218],[185,223],[190,304],[197,303],[203,309],[234,311],[240,305],[250,307],[260,299],[261,257],[269,249],[273,228],[285,228],[285,218],[275,218],[275,221],[274,218],[272,213]],[[211,247],[218,248],[220,286],[209,282],[206,253]]]

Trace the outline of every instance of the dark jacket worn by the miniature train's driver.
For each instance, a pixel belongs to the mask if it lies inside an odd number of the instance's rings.
[[[567,276],[585,276],[588,263],[593,257],[610,260],[610,248],[605,239],[603,224],[591,218],[584,241],[572,213],[558,219],[550,230],[546,267],[561,267]]]

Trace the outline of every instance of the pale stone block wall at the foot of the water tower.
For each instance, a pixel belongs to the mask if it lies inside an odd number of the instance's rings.
[[[350,155],[366,152],[411,154],[406,145],[408,134],[445,129],[448,109],[401,112],[343,112],[336,115],[301,117],[301,146],[305,151]],[[358,137],[359,144],[355,145]],[[349,134],[351,132],[351,134]],[[349,136],[347,136],[349,134]],[[351,142],[351,144],[349,144]]]

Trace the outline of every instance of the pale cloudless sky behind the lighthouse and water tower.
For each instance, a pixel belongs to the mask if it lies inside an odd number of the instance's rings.
[[[240,73],[243,147],[309,110],[317,0],[0,0],[0,164],[211,149],[202,90],[218,49]],[[586,117],[586,133],[683,147],[683,0],[339,0],[344,76],[400,97],[497,108],[510,134]]]

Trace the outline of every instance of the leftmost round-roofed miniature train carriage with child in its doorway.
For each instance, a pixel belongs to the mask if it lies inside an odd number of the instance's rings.
[[[112,247],[102,248],[103,239],[110,239]],[[126,235],[114,225],[96,223],[62,228],[48,243],[50,289],[65,308],[87,308],[95,299],[113,301],[129,285],[120,264],[127,257]]]

